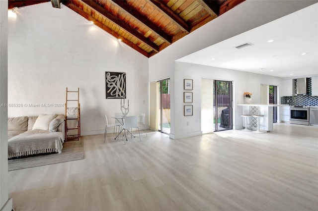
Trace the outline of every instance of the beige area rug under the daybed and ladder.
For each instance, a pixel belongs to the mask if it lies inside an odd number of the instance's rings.
[[[31,168],[41,165],[49,165],[60,162],[67,162],[84,158],[84,142],[68,141],[64,142],[61,154],[50,154],[32,156],[28,158],[18,158],[8,160],[8,170],[17,170],[22,168]]]

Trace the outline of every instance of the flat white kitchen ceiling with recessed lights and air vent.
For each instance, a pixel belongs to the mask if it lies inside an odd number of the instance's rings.
[[[235,48],[244,43],[253,45]],[[318,3],[177,61],[283,78],[317,75]]]

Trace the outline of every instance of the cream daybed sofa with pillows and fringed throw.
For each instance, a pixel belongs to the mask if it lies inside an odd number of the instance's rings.
[[[64,114],[8,118],[8,159],[62,153],[64,140]]]

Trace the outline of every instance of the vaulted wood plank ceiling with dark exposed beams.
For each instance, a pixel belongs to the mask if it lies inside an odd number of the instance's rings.
[[[8,9],[48,0],[8,0]],[[147,57],[244,0],[51,0],[60,2]],[[219,29],[215,29],[219,30]]]

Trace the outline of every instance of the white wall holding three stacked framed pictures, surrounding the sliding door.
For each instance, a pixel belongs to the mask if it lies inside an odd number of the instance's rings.
[[[183,79],[193,79],[193,116],[183,116]],[[284,82],[280,77],[260,75],[231,69],[203,66],[184,62],[175,62],[174,103],[175,103],[175,127],[173,138],[183,138],[200,135],[201,132],[201,89],[202,78],[233,81],[233,128],[241,129],[241,107],[244,104],[243,93],[251,92],[252,103],[261,102],[261,84],[271,84],[283,87]],[[212,90],[213,92],[213,90]],[[171,98],[172,99],[172,98]],[[278,99],[280,99],[278,97]],[[187,125],[187,122],[189,124]]]

